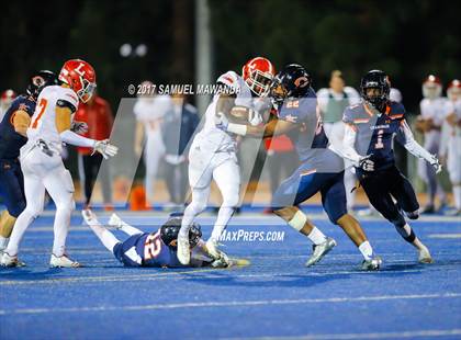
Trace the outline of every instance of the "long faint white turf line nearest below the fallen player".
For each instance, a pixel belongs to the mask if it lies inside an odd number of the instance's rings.
[[[78,277],[60,277],[60,279],[49,279],[49,280],[31,280],[31,281],[22,281],[22,280],[9,280],[9,281],[0,281],[0,286],[7,285],[35,285],[35,284],[63,284],[63,283],[93,283],[93,282],[124,282],[124,281],[157,281],[157,280],[184,280],[190,277],[200,277],[200,279],[223,279],[228,280],[227,275],[192,275],[196,273],[213,273],[213,272],[221,272],[221,271],[228,271],[228,270],[238,270],[238,267],[233,269],[202,269],[202,270],[191,270],[191,271],[182,271],[182,272],[169,272],[169,273],[153,273],[153,274],[137,274],[137,275],[108,275],[108,276],[78,276]],[[445,272],[449,271],[447,269],[442,269]],[[419,273],[423,272],[424,269],[408,269],[408,270],[401,270],[396,271],[395,273]],[[456,269],[452,271],[457,272]],[[325,273],[315,273],[315,272],[306,272],[303,273],[305,277],[318,277],[318,276],[329,276],[329,275],[379,275],[379,274],[389,274],[392,272],[389,271],[334,271],[334,272],[325,272]],[[183,276],[185,275],[185,276]],[[301,275],[301,274],[300,274]],[[273,274],[273,273],[266,273],[266,274],[233,274],[233,279],[251,279],[251,277],[284,277],[286,273],[281,274]],[[1,277],[1,275],[0,275]],[[290,279],[290,277],[288,277]]]

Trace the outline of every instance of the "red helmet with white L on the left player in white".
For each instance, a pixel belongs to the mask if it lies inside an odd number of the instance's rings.
[[[93,67],[80,59],[71,59],[64,64],[59,80],[67,83],[83,103],[93,97],[97,83]]]

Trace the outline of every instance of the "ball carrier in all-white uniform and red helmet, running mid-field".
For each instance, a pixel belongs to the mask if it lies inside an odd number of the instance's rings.
[[[268,59],[256,57],[244,66],[241,73],[240,77],[228,71],[217,79],[223,91],[213,97],[206,109],[205,125],[196,134],[190,148],[189,184],[192,189],[192,202],[184,211],[178,237],[178,259],[182,264],[190,262],[189,228],[195,216],[206,207],[212,180],[223,195],[212,235],[206,241],[206,248],[216,258],[220,257],[217,240],[239,201],[240,169],[236,156],[236,136],[217,128],[216,116],[229,115],[233,107],[239,106],[248,110],[248,121],[251,124],[261,123],[256,107],[259,101],[256,102],[252,95],[266,98],[276,72]]]

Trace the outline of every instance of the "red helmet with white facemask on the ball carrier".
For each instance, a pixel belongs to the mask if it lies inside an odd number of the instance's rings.
[[[268,95],[274,75],[272,63],[262,57],[252,58],[241,68],[241,78],[258,97]]]

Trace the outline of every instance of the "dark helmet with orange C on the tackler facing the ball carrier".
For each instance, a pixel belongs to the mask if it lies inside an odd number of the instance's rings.
[[[270,87],[270,95],[277,106],[286,98],[304,97],[312,84],[312,78],[304,67],[297,64],[286,65],[278,72]]]

